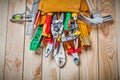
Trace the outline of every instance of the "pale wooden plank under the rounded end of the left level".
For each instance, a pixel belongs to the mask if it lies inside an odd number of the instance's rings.
[[[22,80],[24,24],[10,22],[15,13],[25,11],[25,0],[9,0],[5,57],[5,80]]]

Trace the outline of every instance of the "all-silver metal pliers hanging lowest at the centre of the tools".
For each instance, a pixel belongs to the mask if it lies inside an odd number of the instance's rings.
[[[63,32],[63,21],[64,21],[64,13],[61,13],[60,19],[57,19],[57,14],[53,14],[53,20],[51,24],[51,33],[53,35],[54,44],[53,44],[53,57],[55,58],[56,64],[58,67],[62,67],[66,60],[65,60],[65,54],[64,49],[62,46],[62,43],[60,43],[60,46],[55,46],[58,36],[60,36]],[[60,50],[62,49],[62,50]]]

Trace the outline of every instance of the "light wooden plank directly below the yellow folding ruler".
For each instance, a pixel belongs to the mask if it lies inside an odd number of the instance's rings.
[[[92,46],[82,50],[80,55],[80,80],[98,80],[98,39],[97,28],[93,27],[90,38]]]

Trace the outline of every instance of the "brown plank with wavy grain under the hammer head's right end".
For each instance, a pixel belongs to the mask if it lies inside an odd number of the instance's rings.
[[[99,0],[102,16],[112,15],[113,23],[99,25],[99,79],[117,80],[115,0]]]

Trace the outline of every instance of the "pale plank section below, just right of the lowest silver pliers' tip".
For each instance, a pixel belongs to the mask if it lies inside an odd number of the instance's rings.
[[[66,54],[66,64],[60,69],[60,80],[79,80],[79,65],[74,63],[71,55]]]

